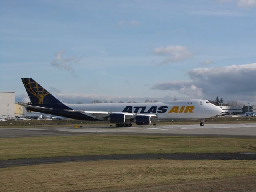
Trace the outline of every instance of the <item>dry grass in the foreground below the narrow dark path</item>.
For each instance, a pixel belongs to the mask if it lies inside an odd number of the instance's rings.
[[[256,160],[109,160],[1,168],[0,191],[255,191]]]

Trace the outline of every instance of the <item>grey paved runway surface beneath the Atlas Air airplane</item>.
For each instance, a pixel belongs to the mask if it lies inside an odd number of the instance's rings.
[[[256,138],[256,123],[244,124],[205,124],[200,125],[162,125],[132,126],[116,128],[114,126],[84,126],[72,128],[58,127],[22,127],[0,128],[0,138],[58,136],[77,134],[148,134],[173,136],[216,136]]]

